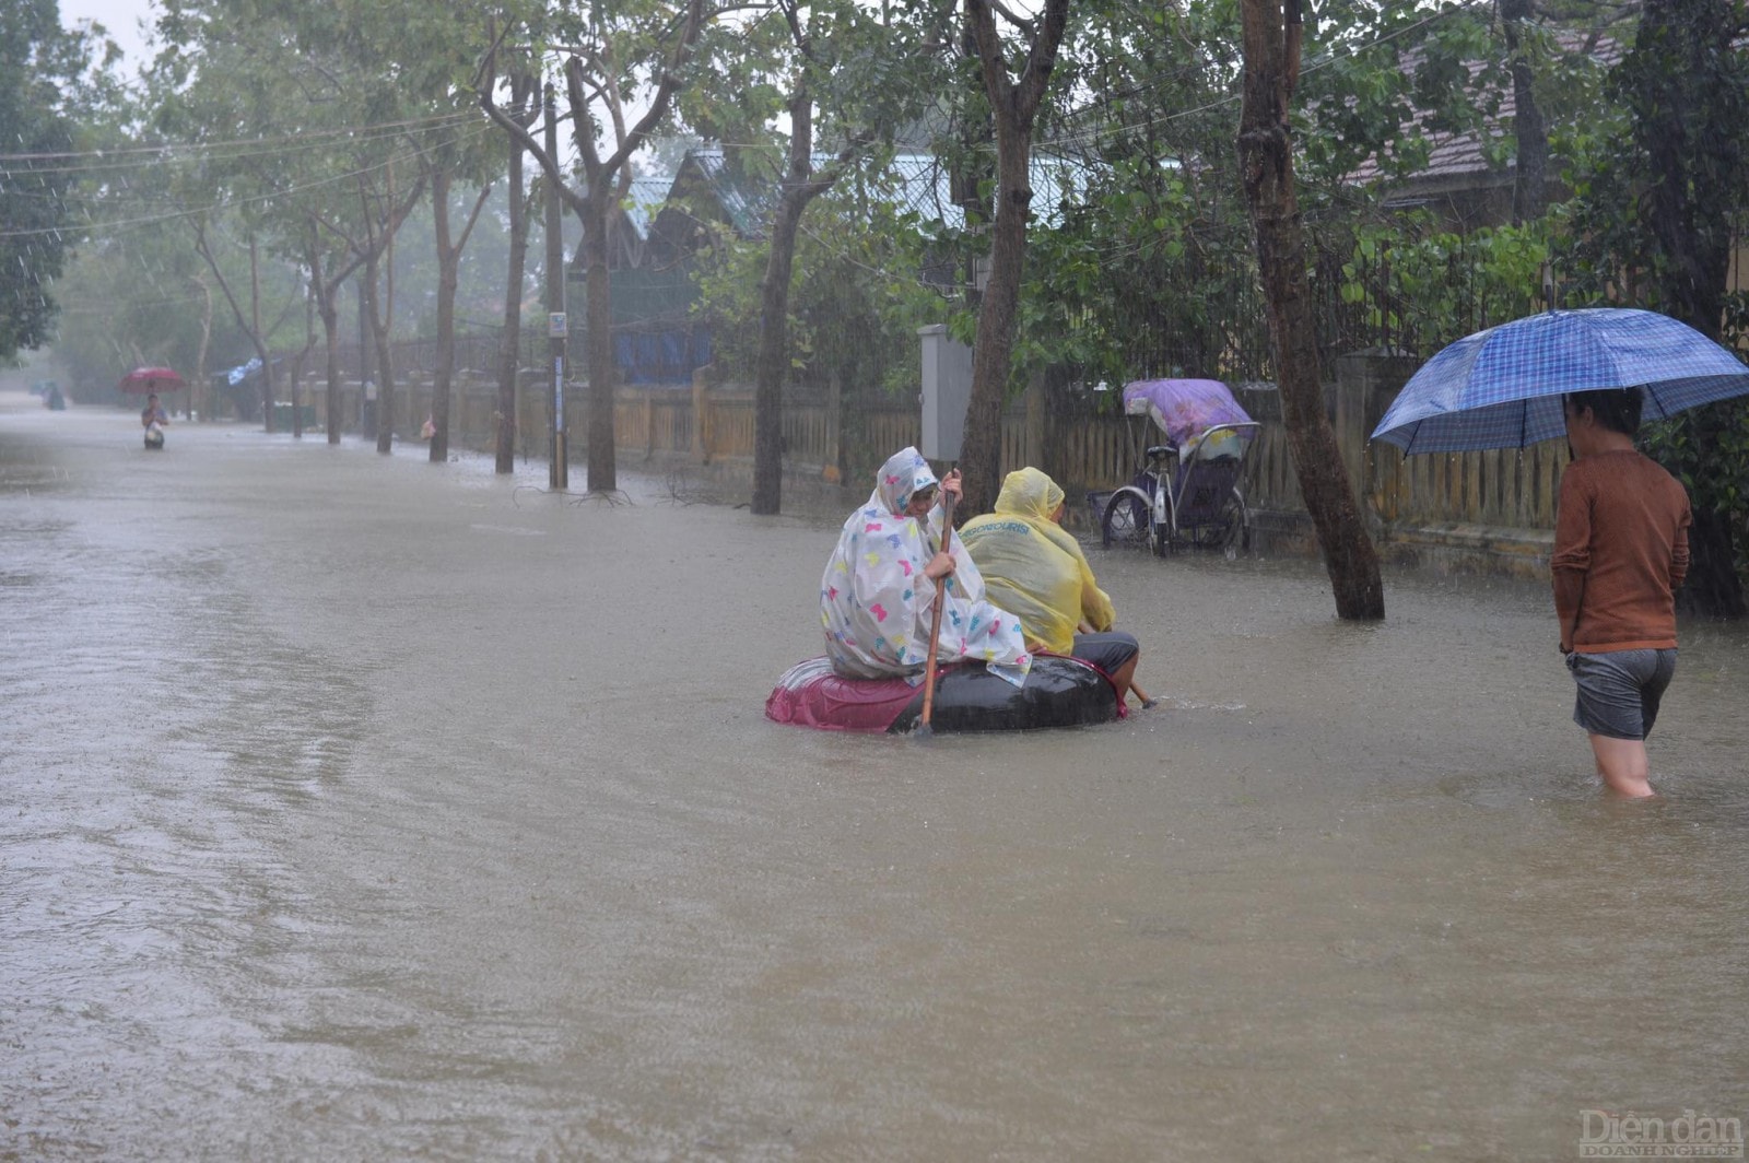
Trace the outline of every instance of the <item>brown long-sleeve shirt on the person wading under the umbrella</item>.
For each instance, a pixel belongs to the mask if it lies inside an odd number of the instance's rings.
[[[1637,451],[1567,465],[1550,558],[1562,649],[1674,647],[1691,519],[1683,484]]]

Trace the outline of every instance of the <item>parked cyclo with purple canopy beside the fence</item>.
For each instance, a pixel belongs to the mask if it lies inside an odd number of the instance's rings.
[[[1123,388],[1123,413],[1147,416],[1165,441],[1142,451],[1128,484],[1088,495],[1104,544],[1151,546],[1160,556],[1181,544],[1247,547],[1251,516],[1238,481],[1263,425],[1228,387],[1219,380],[1137,380]],[[1132,442],[1137,439],[1132,425]]]

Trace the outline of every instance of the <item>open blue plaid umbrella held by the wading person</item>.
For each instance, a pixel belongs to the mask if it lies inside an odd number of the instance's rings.
[[[1403,385],[1373,439],[1404,453],[1523,448],[1567,434],[1564,392],[1635,387],[1644,418],[1663,420],[1749,393],[1749,367],[1669,315],[1544,311],[1441,350]]]

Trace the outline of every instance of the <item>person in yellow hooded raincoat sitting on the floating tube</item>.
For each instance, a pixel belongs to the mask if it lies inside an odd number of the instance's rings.
[[[1081,544],[1062,528],[1063,490],[1037,469],[1002,481],[995,512],[972,518],[960,540],[983,574],[990,602],[1020,619],[1027,645],[1093,663],[1118,687],[1132,689],[1140,644],[1114,631],[1116,610],[1093,581]],[[1077,633],[1083,626],[1093,633]],[[1142,705],[1146,696],[1137,691]]]

